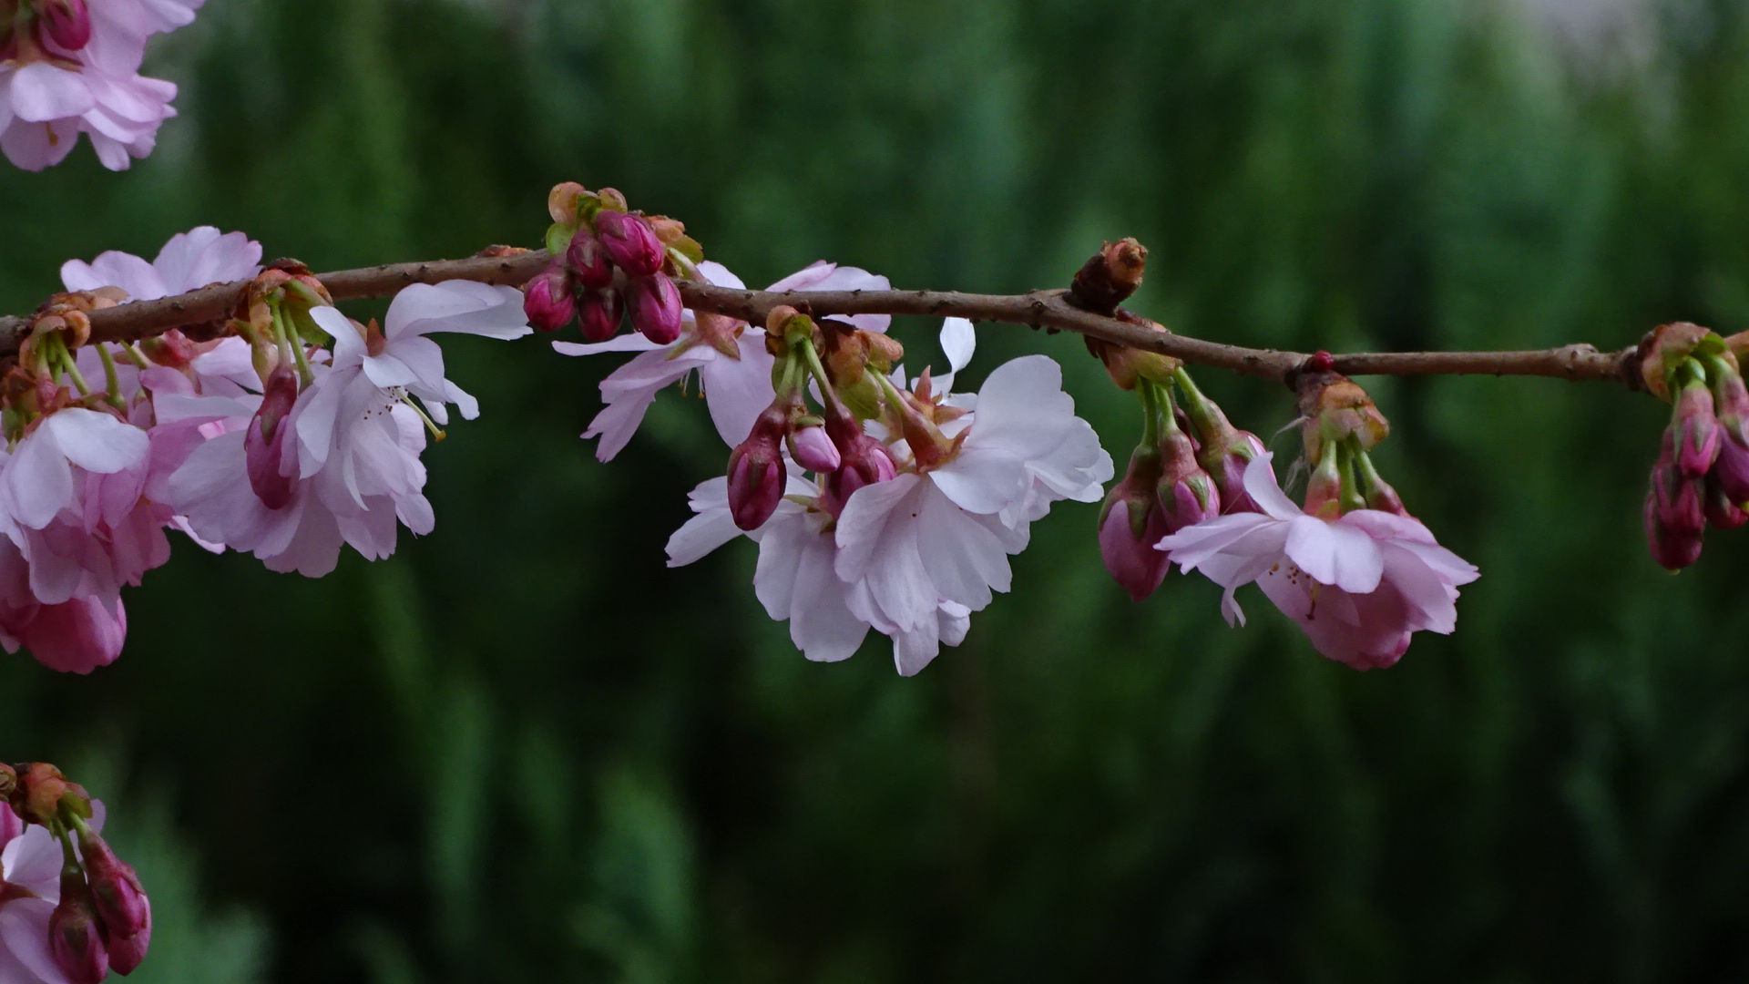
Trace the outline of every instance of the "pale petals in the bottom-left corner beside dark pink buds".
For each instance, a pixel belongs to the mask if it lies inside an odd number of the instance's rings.
[[[93,800],[91,812],[89,826],[101,832],[103,804]],[[61,846],[54,835],[30,825],[23,833],[0,839],[0,982],[66,984],[66,972],[49,942],[59,902]]]

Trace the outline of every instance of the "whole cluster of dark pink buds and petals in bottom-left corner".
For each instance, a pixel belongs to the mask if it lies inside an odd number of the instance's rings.
[[[0,909],[17,907],[7,926],[28,930],[0,938],[14,966],[52,966],[72,984],[96,984],[145,959],[152,903],[101,826],[101,804],[54,765],[0,765]]]

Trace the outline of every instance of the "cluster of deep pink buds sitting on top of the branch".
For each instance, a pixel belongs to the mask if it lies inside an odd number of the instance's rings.
[[[558,331],[574,319],[589,341],[631,327],[656,345],[680,338],[680,291],[673,278],[701,278],[705,252],[686,226],[665,215],[631,212],[612,187],[589,191],[565,182],[547,196],[553,263],[528,282],[523,310],[539,331]]]

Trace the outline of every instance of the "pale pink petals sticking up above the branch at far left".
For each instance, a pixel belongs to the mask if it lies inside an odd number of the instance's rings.
[[[152,263],[108,250],[91,263],[68,259],[61,282],[68,291],[121,287],[129,299],[152,301],[184,294],[208,284],[248,280],[261,273],[261,243],[243,233],[199,226],[170,236]]]

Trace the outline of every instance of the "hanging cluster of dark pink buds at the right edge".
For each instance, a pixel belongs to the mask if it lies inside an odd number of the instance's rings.
[[[1656,327],[1639,357],[1646,389],[1672,408],[1646,492],[1646,543],[1681,571],[1700,559],[1709,524],[1749,522],[1749,389],[1732,340],[1695,324]]]

